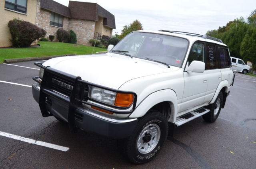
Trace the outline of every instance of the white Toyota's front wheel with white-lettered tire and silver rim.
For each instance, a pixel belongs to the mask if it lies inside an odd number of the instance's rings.
[[[164,144],[168,135],[166,117],[150,111],[138,122],[134,134],[126,142],[126,155],[134,164],[151,161]]]

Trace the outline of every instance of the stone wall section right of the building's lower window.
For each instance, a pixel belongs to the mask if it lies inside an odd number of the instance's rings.
[[[68,30],[76,33],[77,43],[90,45],[89,40],[94,37],[95,21],[69,19]]]

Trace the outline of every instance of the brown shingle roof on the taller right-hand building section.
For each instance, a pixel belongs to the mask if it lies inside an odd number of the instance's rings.
[[[98,21],[98,15],[104,18],[103,25],[116,29],[115,16],[97,3],[69,1],[71,18]]]

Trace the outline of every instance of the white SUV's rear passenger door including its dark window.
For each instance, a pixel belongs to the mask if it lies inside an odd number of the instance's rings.
[[[222,81],[222,74],[219,69],[218,48],[213,43],[206,43],[206,62],[204,73],[208,83],[204,102],[210,102],[215,94],[216,88]]]

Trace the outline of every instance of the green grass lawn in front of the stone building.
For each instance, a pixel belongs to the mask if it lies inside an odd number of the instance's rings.
[[[4,59],[22,57],[65,55],[71,53],[76,53],[77,55],[86,55],[91,54],[93,50],[92,46],[77,45],[72,43],[38,41],[38,44],[41,46],[33,48],[0,48],[0,63],[3,63]],[[95,47],[94,53],[99,51],[107,51],[107,49]]]

